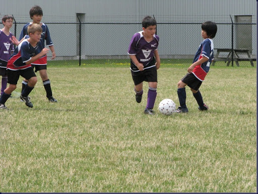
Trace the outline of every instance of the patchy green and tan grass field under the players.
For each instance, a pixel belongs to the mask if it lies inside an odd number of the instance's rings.
[[[42,81],[19,99],[21,81],[1,111],[1,192],[256,192],[256,68],[212,67],[200,88],[209,111],[186,88],[186,114],[177,82],[188,61],[162,63],[155,115],[135,101],[129,65],[52,62],[53,96]],[[256,66],[256,65],[255,65]],[[37,73],[38,75],[38,73]]]

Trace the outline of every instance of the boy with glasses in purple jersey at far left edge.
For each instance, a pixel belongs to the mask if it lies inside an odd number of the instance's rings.
[[[4,28],[0,30],[0,76],[2,76],[1,95],[7,87],[7,62],[14,51],[14,44],[11,39],[13,34],[10,29],[13,26],[13,16],[5,15],[2,18]]]

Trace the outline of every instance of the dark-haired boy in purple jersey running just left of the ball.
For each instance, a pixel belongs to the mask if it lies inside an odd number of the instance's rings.
[[[149,91],[144,113],[155,114],[153,107],[157,96],[157,70],[160,68],[159,37],[155,35],[157,23],[154,18],[147,16],[143,19],[142,26],[143,31],[134,34],[128,48],[130,69],[135,84],[136,101],[142,101],[143,82],[148,82]]]

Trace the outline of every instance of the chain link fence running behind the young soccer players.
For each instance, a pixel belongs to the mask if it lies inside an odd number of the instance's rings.
[[[54,43],[56,60],[60,63],[78,65],[92,61],[108,62],[129,59],[127,49],[132,36],[142,30],[141,23],[46,23]],[[12,32],[19,38],[25,23],[14,22]],[[248,49],[256,67],[256,24],[217,23],[218,31],[213,39],[215,48]],[[160,37],[159,54],[166,59],[193,59],[203,38],[201,23],[158,23]],[[215,49],[215,55],[217,50]],[[222,57],[231,60],[230,53]],[[50,61],[50,54],[49,54]],[[248,58],[244,56],[243,58]],[[126,59],[126,60],[125,60]],[[162,63],[161,60],[161,63]],[[129,63],[129,60],[127,60]],[[234,66],[236,61],[234,61]],[[226,66],[226,61],[217,61],[216,66]],[[232,64],[232,60],[230,61]],[[231,66],[231,65],[230,65]],[[240,67],[249,67],[248,59],[239,61]]]

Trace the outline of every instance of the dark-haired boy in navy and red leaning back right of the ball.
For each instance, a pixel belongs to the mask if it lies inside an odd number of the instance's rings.
[[[213,40],[217,33],[217,25],[214,22],[204,22],[202,24],[202,41],[199,49],[193,59],[193,63],[187,70],[187,74],[177,83],[177,95],[180,106],[177,112],[188,112],[185,104],[186,92],[185,86],[188,86],[193,96],[195,97],[199,110],[208,110],[208,106],[204,104],[202,94],[199,90],[207,73],[210,70],[210,65],[213,60]]]

